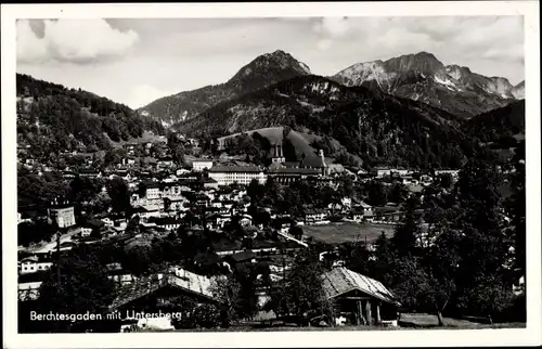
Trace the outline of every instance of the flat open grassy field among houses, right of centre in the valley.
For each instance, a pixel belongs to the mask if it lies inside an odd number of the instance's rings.
[[[356,241],[373,242],[385,232],[393,234],[393,225],[372,223],[335,223],[327,225],[304,225],[304,234],[326,244],[343,244]]]

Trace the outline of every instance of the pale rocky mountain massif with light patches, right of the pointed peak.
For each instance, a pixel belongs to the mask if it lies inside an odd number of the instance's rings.
[[[357,63],[331,77],[345,86],[364,86],[428,103],[465,118],[525,98],[525,82],[486,77],[459,65],[444,66],[427,52],[387,61]]]

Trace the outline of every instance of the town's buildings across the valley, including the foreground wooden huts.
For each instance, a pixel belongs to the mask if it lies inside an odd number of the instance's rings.
[[[150,151],[152,144],[145,145]],[[197,144],[196,144],[197,146]],[[310,207],[305,210],[304,217],[289,217],[278,212],[273,207],[262,207],[271,220],[281,221],[275,228],[275,241],[257,238],[262,225],[255,222],[249,215],[250,198],[247,196],[246,185],[256,180],[264,184],[269,179],[276,183],[288,184],[300,180],[310,180],[313,185],[337,185],[344,176],[354,180],[384,180],[392,178],[396,181],[410,184],[430,183],[429,174],[415,176],[412,171],[402,169],[375,169],[374,171],[356,171],[339,164],[333,164],[325,158],[322,151],[314,155],[305,156],[299,161],[286,161],[282,146],[275,145],[271,165],[267,168],[214,160],[199,157],[191,163],[191,168],[178,167],[169,156],[157,159],[138,159],[136,145],[125,145],[127,155],[112,167],[99,169],[92,161],[77,169],[66,169],[63,176],[66,180],[75,177],[90,179],[121,178],[129,190],[129,202],[132,207],[131,218],[104,212],[92,217],[93,224],[77,224],[74,203],[59,198],[50,203],[47,208],[47,219],[55,221],[62,229],[62,235],[54,241],[44,242],[39,246],[26,249],[20,258],[20,299],[38,297],[40,281],[33,279],[40,272],[53,266],[54,254],[62,253],[77,244],[94,244],[107,242],[129,242],[132,240],[151,240],[165,237],[175,232],[184,222],[186,215],[196,214],[198,223],[191,224],[190,230],[198,234],[204,230],[220,233],[235,220],[240,227],[251,232],[250,245],[242,242],[214,243],[212,254],[196,256],[195,267],[225,268],[232,270],[244,268],[255,262],[266,261],[271,270],[273,281],[283,280],[289,270],[291,259],[300,248],[307,247],[302,236],[289,235],[295,225],[328,224],[337,215],[344,220],[353,222],[363,221],[398,221],[401,211],[398,207],[372,207],[364,202],[345,196],[339,203],[328,207]],[[35,164],[25,164],[28,167]],[[143,166],[142,166],[143,165]],[[457,171],[449,171],[456,177]],[[434,176],[439,176],[435,173]],[[416,179],[415,179],[416,178]],[[238,184],[238,185],[237,185]],[[103,193],[107,193],[105,186]],[[127,232],[130,220],[139,217],[138,231]],[[20,217],[20,222],[23,219]],[[98,231],[98,234],[93,234]],[[279,243],[280,241],[280,243]],[[156,301],[160,297],[188,294],[202,302],[216,302],[208,292],[211,276],[204,276],[193,271],[173,268],[166,273],[153,275],[152,280],[143,280],[122,271],[118,266],[111,266],[108,277],[119,287],[118,297],[112,310],[122,308],[149,307],[149,299]],[[399,302],[384,285],[366,276],[359,275],[346,269],[334,269],[323,275],[326,294],[330,298],[338,299],[340,316],[339,324],[385,324],[395,321],[395,309]],[[260,289],[261,290],[261,289]],[[153,295],[149,298],[149,295]],[[260,293],[260,302],[266,301],[266,292]],[[160,298],[162,299],[162,298]],[[151,305],[151,308],[154,305]],[[353,309],[353,311],[352,311]]]

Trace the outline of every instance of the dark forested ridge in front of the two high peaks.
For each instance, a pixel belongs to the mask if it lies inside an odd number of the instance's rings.
[[[216,137],[289,126],[330,135],[370,166],[457,168],[476,144],[462,122],[427,104],[301,76],[220,103],[178,127]]]

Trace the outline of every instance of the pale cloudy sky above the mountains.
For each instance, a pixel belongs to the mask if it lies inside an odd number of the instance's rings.
[[[525,79],[521,16],[18,20],[17,72],[132,108],[225,82],[283,50],[312,74],[426,51],[513,85]]]

